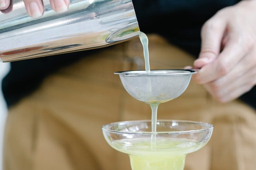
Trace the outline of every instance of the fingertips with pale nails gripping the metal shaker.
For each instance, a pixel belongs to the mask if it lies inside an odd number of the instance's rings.
[[[33,18],[38,18],[44,13],[42,0],[23,0],[27,13]],[[57,13],[67,11],[69,0],[50,0],[51,6]],[[0,10],[6,10],[10,6],[10,0],[0,0]]]

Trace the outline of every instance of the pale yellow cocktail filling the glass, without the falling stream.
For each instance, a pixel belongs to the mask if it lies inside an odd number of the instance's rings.
[[[186,139],[150,138],[115,140],[112,147],[129,154],[133,170],[183,170],[186,153],[201,148],[201,143]]]

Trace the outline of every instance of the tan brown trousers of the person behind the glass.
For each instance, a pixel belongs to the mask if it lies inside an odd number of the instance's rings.
[[[149,36],[152,69],[183,68],[194,58]],[[84,52],[86,53],[86,51]],[[9,110],[5,170],[130,170],[129,157],[104,140],[106,123],[150,119],[150,107],[124,90],[115,71],[143,69],[139,39],[83,58],[47,77]],[[161,104],[159,119],[212,123],[213,135],[189,154],[185,170],[255,170],[255,110],[236,100],[219,104],[193,82],[177,99]]]

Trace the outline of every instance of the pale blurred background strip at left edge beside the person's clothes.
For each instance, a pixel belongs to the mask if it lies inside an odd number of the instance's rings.
[[[2,89],[2,79],[10,69],[10,63],[0,62],[0,88]],[[0,170],[2,170],[2,153],[3,153],[3,139],[4,139],[4,125],[7,115],[7,107],[3,97],[2,90],[0,90]]]

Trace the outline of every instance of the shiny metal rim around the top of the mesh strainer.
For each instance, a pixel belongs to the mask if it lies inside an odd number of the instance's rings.
[[[185,70],[185,69],[162,69],[162,70],[150,70],[150,71],[170,71],[170,73],[153,73],[153,72],[145,72],[145,70],[133,70],[133,71],[122,71],[122,72],[114,72],[114,74],[119,75],[184,75],[184,74],[195,74],[197,73],[194,70]],[[185,71],[185,72],[172,72],[171,71]]]

